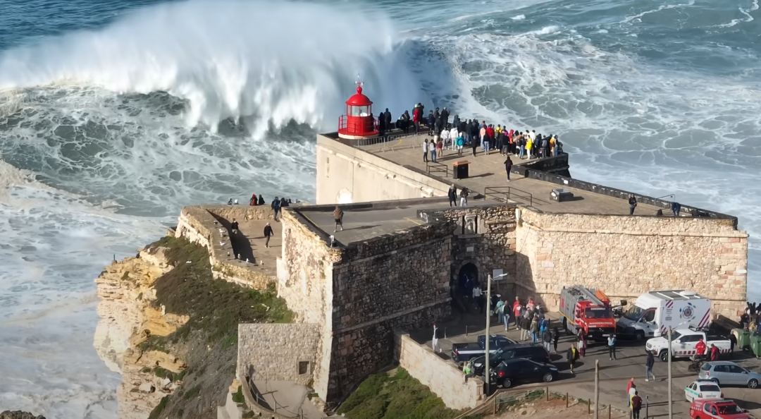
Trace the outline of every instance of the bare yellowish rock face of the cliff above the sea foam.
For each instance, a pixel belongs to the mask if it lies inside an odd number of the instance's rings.
[[[116,390],[120,419],[145,419],[161,398],[177,389],[177,376],[185,369],[183,360],[158,350],[142,350],[149,336],[166,336],[188,321],[188,316],[165,313],[151,302],[156,299],[155,281],[172,267],[164,248],[145,248],[138,257],[114,262],[100,273],[95,283],[100,303],[100,322],[94,346],[106,365],[122,374]]]

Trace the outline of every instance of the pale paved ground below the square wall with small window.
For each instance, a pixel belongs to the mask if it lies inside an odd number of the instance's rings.
[[[282,414],[285,417],[321,419],[325,417],[320,409],[307,396],[309,389],[291,381],[255,381],[254,392],[263,396],[260,402],[263,408]]]

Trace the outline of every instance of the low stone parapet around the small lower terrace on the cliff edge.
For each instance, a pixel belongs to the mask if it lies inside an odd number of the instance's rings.
[[[220,223],[215,215],[222,219],[269,219],[272,218],[272,209],[269,206],[186,206],[180,212],[175,230],[176,237],[187,238],[209,250],[209,262],[215,278],[248,288],[266,289],[272,277],[256,269],[253,264],[228,256],[234,254],[229,223],[224,220]]]

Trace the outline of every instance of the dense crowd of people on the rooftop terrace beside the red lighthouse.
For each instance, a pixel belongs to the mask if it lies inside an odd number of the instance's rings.
[[[403,133],[425,133],[432,139],[425,139],[423,144],[423,159],[428,162],[436,162],[444,150],[456,150],[457,155],[463,154],[463,149],[470,147],[473,155],[478,149],[486,154],[492,151],[502,155],[517,155],[519,158],[543,158],[562,153],[562,142],[557,134],[543,135],[536,130],[508,129],[507,125],[479,122],[476,118],[463,120],[459,115],[454,115],[449,122],[450,112],[446,107],[439,110],[429,110],[425,116],[425,106],[416,104],[412,108],[412,116],[409,110],[400,115],[396,123],[391,122],[391,113],[386,108],[378,117],[380,135],[390,132],[394,128]]]

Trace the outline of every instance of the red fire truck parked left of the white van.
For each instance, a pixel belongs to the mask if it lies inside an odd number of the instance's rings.
[[[565,317],[566,330],[584,335],[594,341],[604,341],[616,333],[616,320],[610,309],[610,299],[602,291],[575,285],[560,292],[560,314]]]

